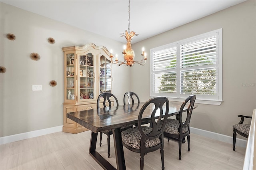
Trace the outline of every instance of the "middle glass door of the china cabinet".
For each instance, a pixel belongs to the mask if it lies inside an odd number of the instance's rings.
[[[94,99],[94,56],[92,53],[79,56],[78,100]]]

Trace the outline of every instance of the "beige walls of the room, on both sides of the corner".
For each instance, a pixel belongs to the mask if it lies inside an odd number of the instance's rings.
[[[200,20],[133,44],[136,56],[146,48],[146,65],[113,65],[113,93],[122,103],[125,91],[132,90],[147,101],[150,94],[150,48],[223,28],[223,100],[220,106],[202,105],[194,110],[191,126],[232,136],[238,114],[251,115],[256,108],[256,2],[246,1]],[[56,22],[31,12],[1,5],[0,136],[30,132],[63,125],[63,52],[62,47],[95,43],[122,52],[122,43]],[[19,17],[17,17],[19,16]],[[164,22],[169,21],[168,18]],[[146,29],[146,28],[145,28]],[[8,33],[16,35],[8,40]],[[47,38],[56,40],[54,45]],[[37,52],[40,61],[29,54]],[[131,73],[131,75],[129,74]],[[58,85],[50,87],[49,81]],[[42,84],[43,91],[32,91]]]

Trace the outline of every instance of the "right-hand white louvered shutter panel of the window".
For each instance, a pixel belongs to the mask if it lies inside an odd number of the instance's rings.
[[[216,36],[180,45],[181,94],[216,95]]]

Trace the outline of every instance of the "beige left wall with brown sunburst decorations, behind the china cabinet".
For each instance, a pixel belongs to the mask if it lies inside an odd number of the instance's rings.
[[[0,65],[7,69],[0,74],[0,136],[63,125],[62,47],[94,43],[122,53],[123,44],[2,2],[0,5]],[[16,40],[8,40],[8,33]],[[47,42],[49,37],[56,40],[54,45]],[[39,53],[41,59],[32,61],[32,52]],[[112,92],[121,103],[130,88],[128,73],[129,68],[113,65]],[[49,85],[51,80],[57,81],[56,87]],[[32,91],[33,84],[42,85],[42,91]]]

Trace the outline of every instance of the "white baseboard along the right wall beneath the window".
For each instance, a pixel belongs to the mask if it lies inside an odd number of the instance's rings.
[[[193,128],[193,127],[190,127],[190,132],[195,133],[195,134],[199,134],[201,136],[205,136],[205,137],[208,137],[208,138],[212,138],[212,139],[215,139],[215,140],[219,140],[219,141],[222,141],[222,142],[233,144],[233,133],[231,134],[232,136],[227,136],[227,135],[224,135],[224,134],[210,132],[210,131],[207,131],[207,130],[202,130],[202,129]],[[246,148],[246,145],[247,145],[247,140],[236,138],[236,146],[241,146],[241,147]]]

